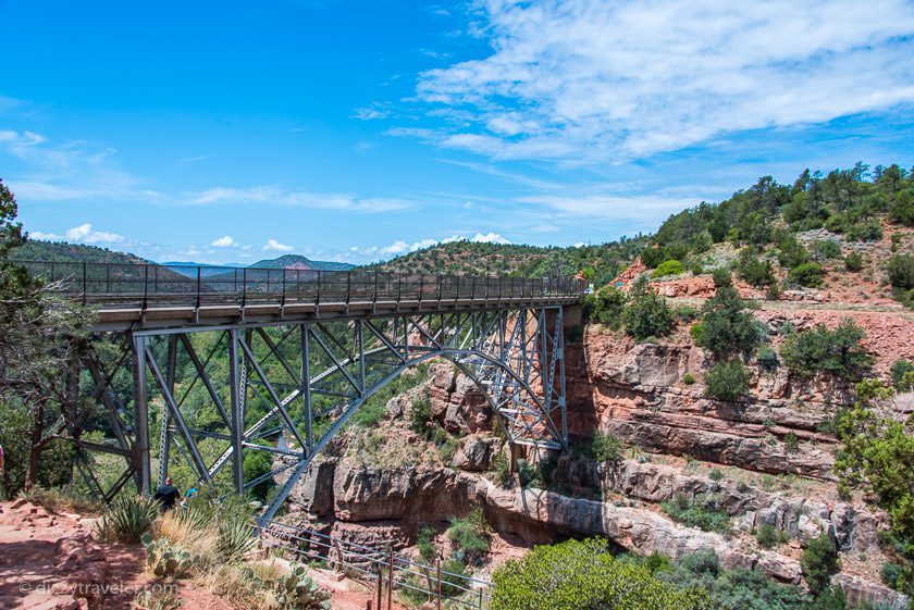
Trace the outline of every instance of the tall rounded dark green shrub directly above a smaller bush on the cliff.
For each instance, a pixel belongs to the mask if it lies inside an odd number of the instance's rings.
[[[751,306],[736,288],[718,288],[702,307],[701,325],[692,327],[695,344],[716,358],[752,353],[762,340],[762,331],[755,319],[744,311]]]

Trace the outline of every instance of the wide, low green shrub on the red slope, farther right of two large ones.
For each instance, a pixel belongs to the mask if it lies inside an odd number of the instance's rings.
[[[844,379],[859,379],[869,372],[874,360],[861,346],[865,336],[849,318],[835,331],[819,324],[787,337],[781,357],[791,370],[804,377],[822,371]]]

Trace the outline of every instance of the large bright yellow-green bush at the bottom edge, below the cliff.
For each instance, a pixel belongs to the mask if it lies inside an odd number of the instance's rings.
[[[699,610],[707,596],[680,589],[613,557],[604,540],[538,546],[492,575],[491,610]]]

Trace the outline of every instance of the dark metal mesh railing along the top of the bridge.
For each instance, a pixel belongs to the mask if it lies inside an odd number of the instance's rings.
[[[22,261],[28,272],[87,303],[514,301],[571,299],[583,283],[567,277],[489,277],[379,271],[316,271],[92,262]]]

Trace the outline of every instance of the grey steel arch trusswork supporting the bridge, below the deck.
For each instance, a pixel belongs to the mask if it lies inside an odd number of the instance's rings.
[[[104,500],[131,480],[150,491],[150,416],[158,416],[152,424],[159,428],[160,482],[181,462],[198,483],[230,476],[239,493],[282,481],[262,515],[270,521],[359,407],[405,370],[433,358],[453,361],[475,382],[511,443],[556,449],[568,443],[560,306],[366,313],[119,337],[107,364],[94,352],[82,357],[111,439],[77,441],[77,465]],[[133,387],[119,394],[112,381],[124,368]],[[209,416],[201,419],[201,412]],[[90,466],[89,452],[96,451],[125,461],[107,486]],[[251,452],[269,453],[272,470],[246,477],[244,457]]]

